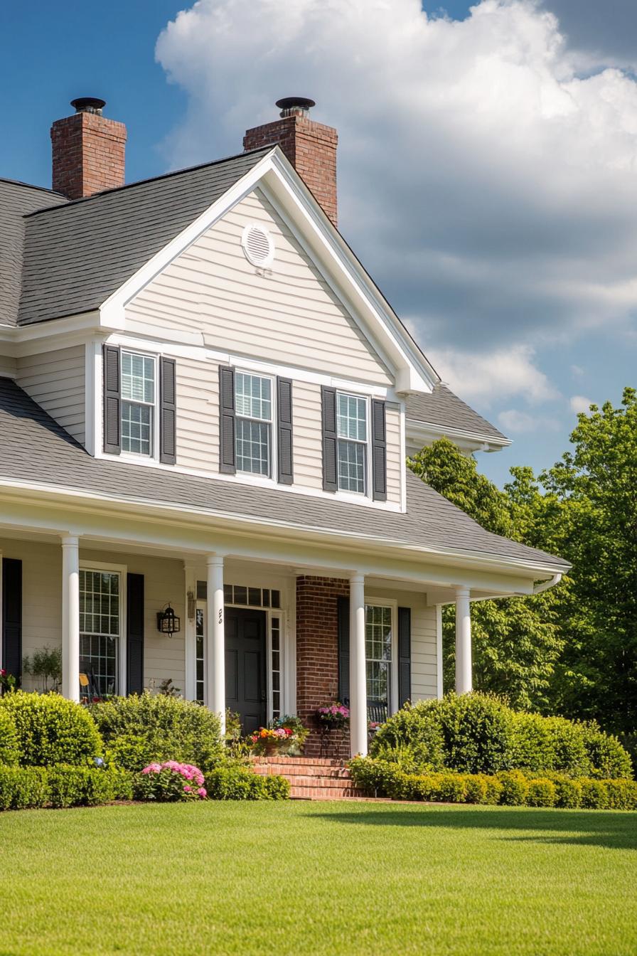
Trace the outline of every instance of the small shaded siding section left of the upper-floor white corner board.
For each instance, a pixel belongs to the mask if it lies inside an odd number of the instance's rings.
[[[17,359],[17,383],[78,442],[85,441],[85,347]]]

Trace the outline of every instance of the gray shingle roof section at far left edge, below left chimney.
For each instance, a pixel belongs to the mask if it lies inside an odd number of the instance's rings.
[[[66,203],[51,189],[0,179],[0,325],[16,325],[25,219],[35,209]]]

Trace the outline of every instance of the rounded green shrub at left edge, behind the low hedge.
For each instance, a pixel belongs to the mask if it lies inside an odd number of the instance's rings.
[[[20,763],[28,767],[86,764],[103,744],[86,708],[60,694],[17,690],[0,697],[0,710],[15,724]]]

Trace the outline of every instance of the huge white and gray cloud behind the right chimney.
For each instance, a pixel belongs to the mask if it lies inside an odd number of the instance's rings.
[[[188,93],[173,166],[240,151],[277,98],[317,100],[341,227],[462,397],[546,401],[528,343],[630,327],[637,82],[533,0],[462,22],[420,0],[199,0],[157,57]]]

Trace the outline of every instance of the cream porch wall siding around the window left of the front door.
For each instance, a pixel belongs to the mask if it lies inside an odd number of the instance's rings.
[[[4,557],[22,561],[22,654],[31,656],[45,645],[62,642],[62,548],[51,544],[0,540]],[[80,564],[120,564],[144,576],[144,686],[158,686],[166,678],[184,688],[184,576],[180,561],[137,554],[95,552],[80,548]],[[170,600],[181,618],[181,631],[168,638],[159,634],[157,612]],[[33,689],[25,675],[24,686]]]

